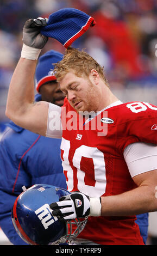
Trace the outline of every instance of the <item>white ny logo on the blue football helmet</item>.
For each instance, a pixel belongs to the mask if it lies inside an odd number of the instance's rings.
[[[37,215],[45,229],[47,229],[49,225],[58,220],[56,216],[53,216],[51,214],[51,209],[48,204],[42,205],[39,209],[35,211],[35,214]]]

